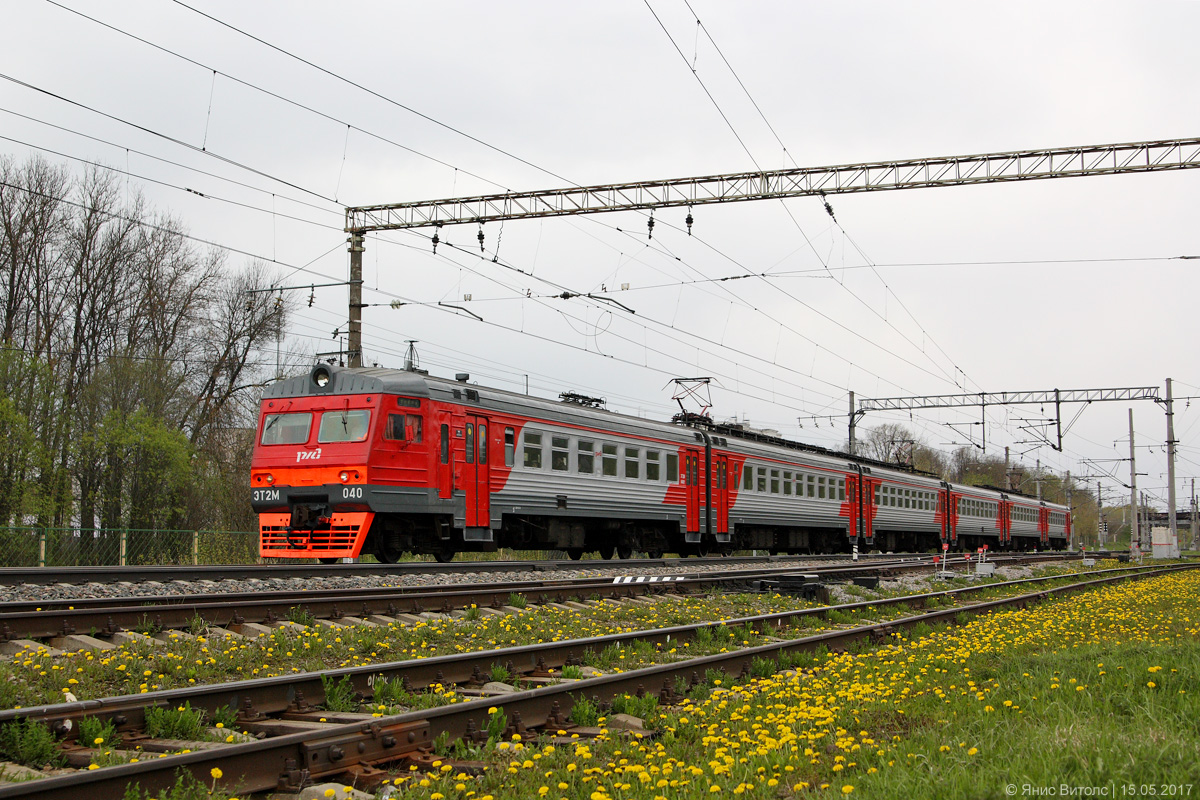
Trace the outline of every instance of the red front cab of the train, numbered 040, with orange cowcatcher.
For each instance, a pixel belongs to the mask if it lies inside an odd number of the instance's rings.
[[[407,549],[395,519],[433,518],[430,401],[380,389],[319,366],[268,391],[251,465],[260,557],[394,561]]]

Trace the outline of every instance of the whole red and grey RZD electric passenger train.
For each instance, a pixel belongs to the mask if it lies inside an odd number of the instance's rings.
[[[422,371],[272,384],[251,465],[260,554],[1061,549],[1067,507],[766,437]]]

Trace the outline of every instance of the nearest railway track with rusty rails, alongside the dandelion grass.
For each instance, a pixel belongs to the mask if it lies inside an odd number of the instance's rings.
[[[672,705],[678,699],[676,690],[680,679],[695,682],[696,675],[702,675],[708,669],[745,676],[750,674],[756,660],[779,660],[788,654],[821,646],[844,649],[854,642],[886,639],[894,632],[919,624],[954,621],[964,613],[978,614],[1004,606],[1025,606],[1070,591],[1188,569],[1196,567],[1195,565],[1164,569],[1122,567],[1090,573],[1084,581],[1064,576],[1027,578],[906,597],[887,597],[619,633],[600,639],[540,643],[487,652],[0,711],[0,724],[32,720],[56,730],[66,741],[65,748],[71,763],[77,765],[83,765],[96,756],[96,751],[89,746],[90,742],[72,741],[72,736],[77,735],[72,732],[78,732],[79,722],[85,717],[112,722],[125,734],[127,744],[132,746],[136,742],[144,752],[178,751],[186,748],[188,744],[192,745],[192,752],[187,753],[4,786],[0,787],[0,799],[36,794],[48,800],[84,795],[103,800],[122,796],[126,787],[134,782],[146,790],[161,790],[174,782],[176,770],[190,771],[208,783],[214,766],[218,766],[228,776],[229,786],[236,784],[239,792],[246,793],[271,789],[294,792],[301,784],[335,777],[342,782],[370,787],[378,784],[386,776],[380,769],[384,766],[398,764],[404,768],[432,768],[434,756],[431,745],[438,736],[476,742],[486,740],[487,735],[481,732],[487,728],[492,718],[490,710],[497,706],[508,722],[505,738],[511,734],[528,738],[538,735],[539,730],[551,741],[559,730],[587,738],[598,732],[572,726],[568,721],[576,698],[593,697],[606,702],[620,694],[653,692],[659,696],[662,705]],[[1040,584],[1052,582],[1062,585],[1038,588]],[[1033,590],[1021,591],[1024,589]],[[973,594],[997,590],[1019,591],[1019,594],[973,603],[961,602]],[[864,610],[878,616],[886,615],[888,608],[894,612],[904,607],[925,606],[940,607],[878,622],[822,631],[814,636],[786,638],[787,628],[797,626],[805,618],[828,618]],[[640,643],[644,648],[661,643],[695,642],[703,636],[703,631],[712,634],[714,631],[733,627],[739,631],[752,628],[772,636],[764,644],[734,648],[727,652],[668,661],[584,680],[552,682],[554,678],[551,670],[558,672],[587,648],[616,645],[632,651]],[[488,696],[482,688],[486,685],[486,672],[500,661],[509,662],[509,672],[512,675],[521,676],[523,681],[536,687]],[[376,691],[383,685],[382,681],[400,681],[416,690],[431,686],[445,688],[454,685],[460,693],[464,696],[474,693],[479,699],[385,716],[377,712],[334,712],[324,708],[326,687],[342,681],[350,684],[355,697],[362,703],[371,703]],[[260,738],[240,744],[214,745],[186,741],[155,742],[140,733],[150,709],[179,708],[184,704],[203,709],[210,718],[221,712],[236,711],[238,729],[248,730]],[[473,769],[478,765],[457,764],[457,766]]]

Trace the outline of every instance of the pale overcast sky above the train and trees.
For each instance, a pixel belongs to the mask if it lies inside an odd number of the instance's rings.
[[[190,5],[4,4],[0,151],[124,170],[230,267],[275,260],[288,287],[346,278],[346,205],[1200,134],[1196,2]],[[672,377],[712,375],[716,419],[832,446],[850,390],[1171,377],[1200,396],[1198,261],[1177,258],[1200,254],[1198,200],[1183,170],[833,196],[836,224],[816,198],[698,206],[691,236],[668,209],[653,240],[634,212],[491,223],[482,253],[472,225],[443,229],[457,247],[437,254],[430,231],[372,235],[366,360],[398,367],[418,339],[436,374],[528,375],[533,393],[654,417]],[[770,276],[712,281],[746,272]],[[346,289],[312,307],[307,288],[286,294],[293,363],[336,349]],[[1127,409],[1087,408],[1062,453],[1021,429],[1052,409],[992,409],[988,451],[1128,481],[1127,463],[1082,461],[1128,456]],[[1186,505],[1200,401],[1176,410]],[[1165,498],[1162,408],[1134,414],[1139,481]],[[949,450],[980,426],[948,423],[976,420],[863,425]]]

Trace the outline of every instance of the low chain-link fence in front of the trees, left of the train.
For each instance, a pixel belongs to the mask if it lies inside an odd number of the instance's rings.
[[[258,564],[258,533],[0,528],[0,566]]]

